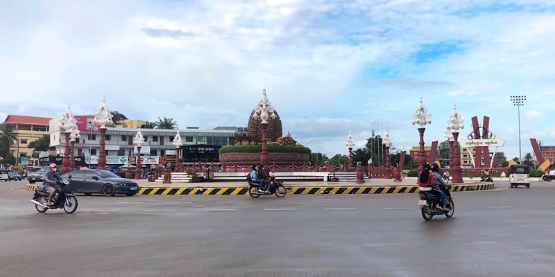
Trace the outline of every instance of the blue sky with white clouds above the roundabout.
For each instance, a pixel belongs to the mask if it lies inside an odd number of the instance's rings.
[[[529,133],[555,145],[555,1],[0,1],[0,118],[94,114],[180,128],[247,125],[266,89],[284,133],[329,157],[388,123],[393,147],[425,141],[453,105],[490,116],[499,151]],[[377,124],[379,123],[379,124]],[[385,124],[384,124],[385,125]]]

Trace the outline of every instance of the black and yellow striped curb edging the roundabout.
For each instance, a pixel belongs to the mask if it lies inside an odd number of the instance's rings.
[[[27,185],[28,190],[36,186]],[[495,184],[453,185],[451,191],[491,190]],[[293,195],[361,195],[418,193],[418,186],[288,186]],[[246,195],[247,187],[234,188],[183,188],[183,187],[143,187],[137,195]]]

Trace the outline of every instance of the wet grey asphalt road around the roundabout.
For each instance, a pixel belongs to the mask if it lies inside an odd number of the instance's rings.
[[[0,183],[0,276],[555,276],[555,183],[454,193],[432,222],[416,195],[78,196],[40,214],[22,184]]]

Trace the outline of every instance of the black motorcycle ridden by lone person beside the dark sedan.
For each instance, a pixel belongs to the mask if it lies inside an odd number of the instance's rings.
[[[35,204],[35,208],[39,213],[56,208],[63,208],[66,213],[74,213],[77,210],[77,198],[70,193],[69,181],[58,181],[57,184],[60,186],[60,193],[56,193],[52,197],[52,206],[46,205],[50,193],[44,190],[42,186],[35,188],[35,195],[33,195],[31,203]]]

